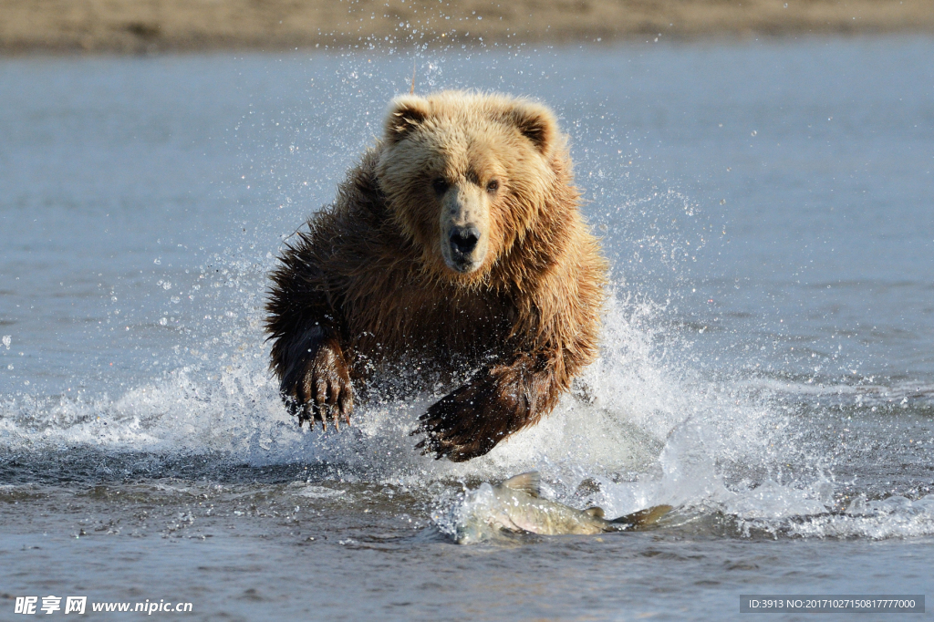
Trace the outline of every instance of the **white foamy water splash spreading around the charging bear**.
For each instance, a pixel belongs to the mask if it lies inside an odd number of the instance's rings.
[[[255,280],[255,267],[245,262],[241,276]],[[235,283],[232,273],[224,278]],[[77,449],[111,458],[157,456],[149,465],[157,474],[186,456],[202,456],[254,466],[318,464],[346,481],[412,489],[460,481],[435,492],[439,526],[469,502],[466,483],[537,469],[546,495],[578,507],[600,505],[608,516],[666,503],[682,513],[730,516],[746,535],[934,533],[930,495],[864,496],[840,510],[833,460],[797,429],[782,388],[704,378],[685,362],[689,339],[659,328],[669,325],[667,310],[651,301],[611,295],[601,356],[572,393],[539,425],[466,464],[413,449],[408,432],[439,397],[431,392],[362,404],[349,430],[299,430],[279,403],[265,357],[253,356],[264,351],[257,306],[227,319],[222,343],[190,346],[195,360],[116,397],[5,397],[0,451],[26,461]],[[233,356],[216,356],[228,348]],[[105,468],[92,469],[89,479],[106,476]],[[296,494],[325,494],[318,488],[307,483]]]

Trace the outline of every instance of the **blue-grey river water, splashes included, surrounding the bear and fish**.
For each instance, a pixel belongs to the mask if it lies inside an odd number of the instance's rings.
[[[881,37],[0,61],[0,619],[49,595],[728,620],[757,616],[741,594],[934,594],[932,58]],[[417,92],[555,108],[613,266],[592,399],[460,465],[413,450],[429,388],[300,431],[261,325],[282,241],[413,63]],[[575,507],[676,509],[454,544],[465,489],[532,469]]]

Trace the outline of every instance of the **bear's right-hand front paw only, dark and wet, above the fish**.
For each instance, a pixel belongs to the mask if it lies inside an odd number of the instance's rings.
[[[508,424],[490,401],[491,388],[465,385],[432,405],[419,417],[412,435],[425,434],[417,445],[422,455],[453,462],[483,456],[502,441]]]

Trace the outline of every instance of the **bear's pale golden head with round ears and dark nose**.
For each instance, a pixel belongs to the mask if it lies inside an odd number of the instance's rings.
[[[565,160],[545,106],[448,91],[392,101],[376,176],[426,267],[476,282],[541,224]]]

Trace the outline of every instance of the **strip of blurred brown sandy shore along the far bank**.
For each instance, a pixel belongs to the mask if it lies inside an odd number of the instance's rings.
[[[0,0],[0,53],[934,33],[934,0]]]

